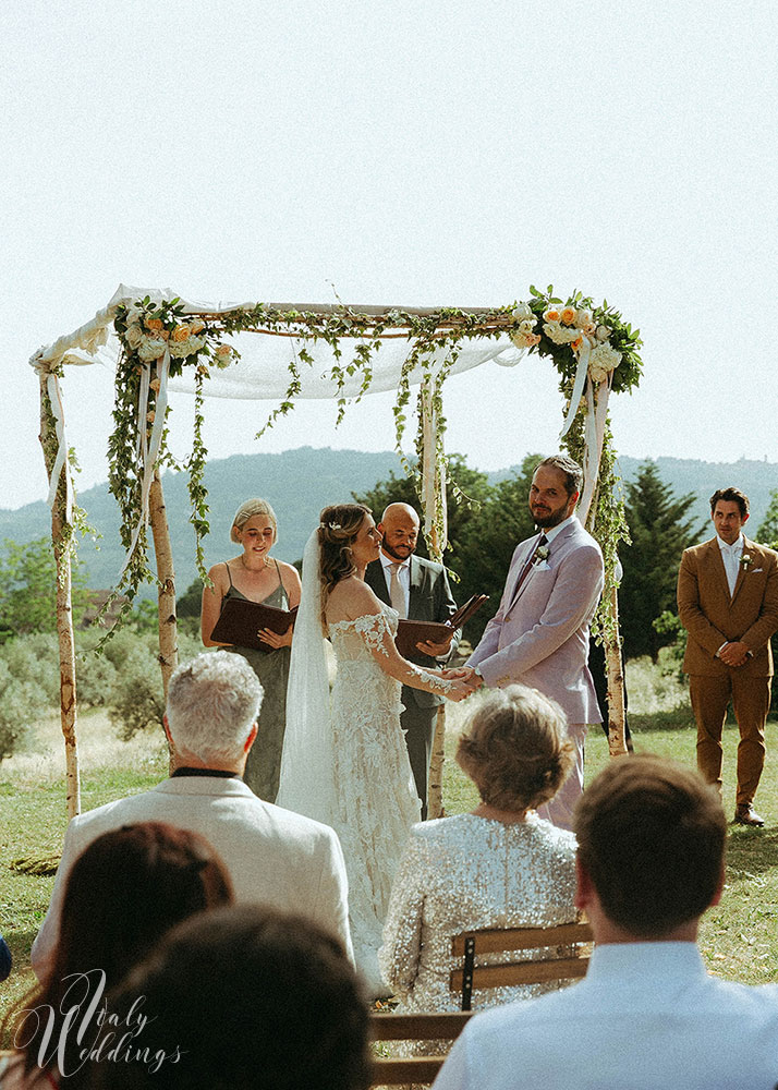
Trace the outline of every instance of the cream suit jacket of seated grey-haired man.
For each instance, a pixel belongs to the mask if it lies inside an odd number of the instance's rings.
[[[264,802],[242,779],[177,776],[71,821],[51,903],[33,943],[31,960],[38,978],[57,944],[71,867],[102,833],[143,821],[168,822],[199,833],[221,856],[236,901],[263,901],[281,911],[303,912],[337,935],[353,957],[345,864],[333,829]],[[117,906],[117,910],[131,911],[132,906]]]

